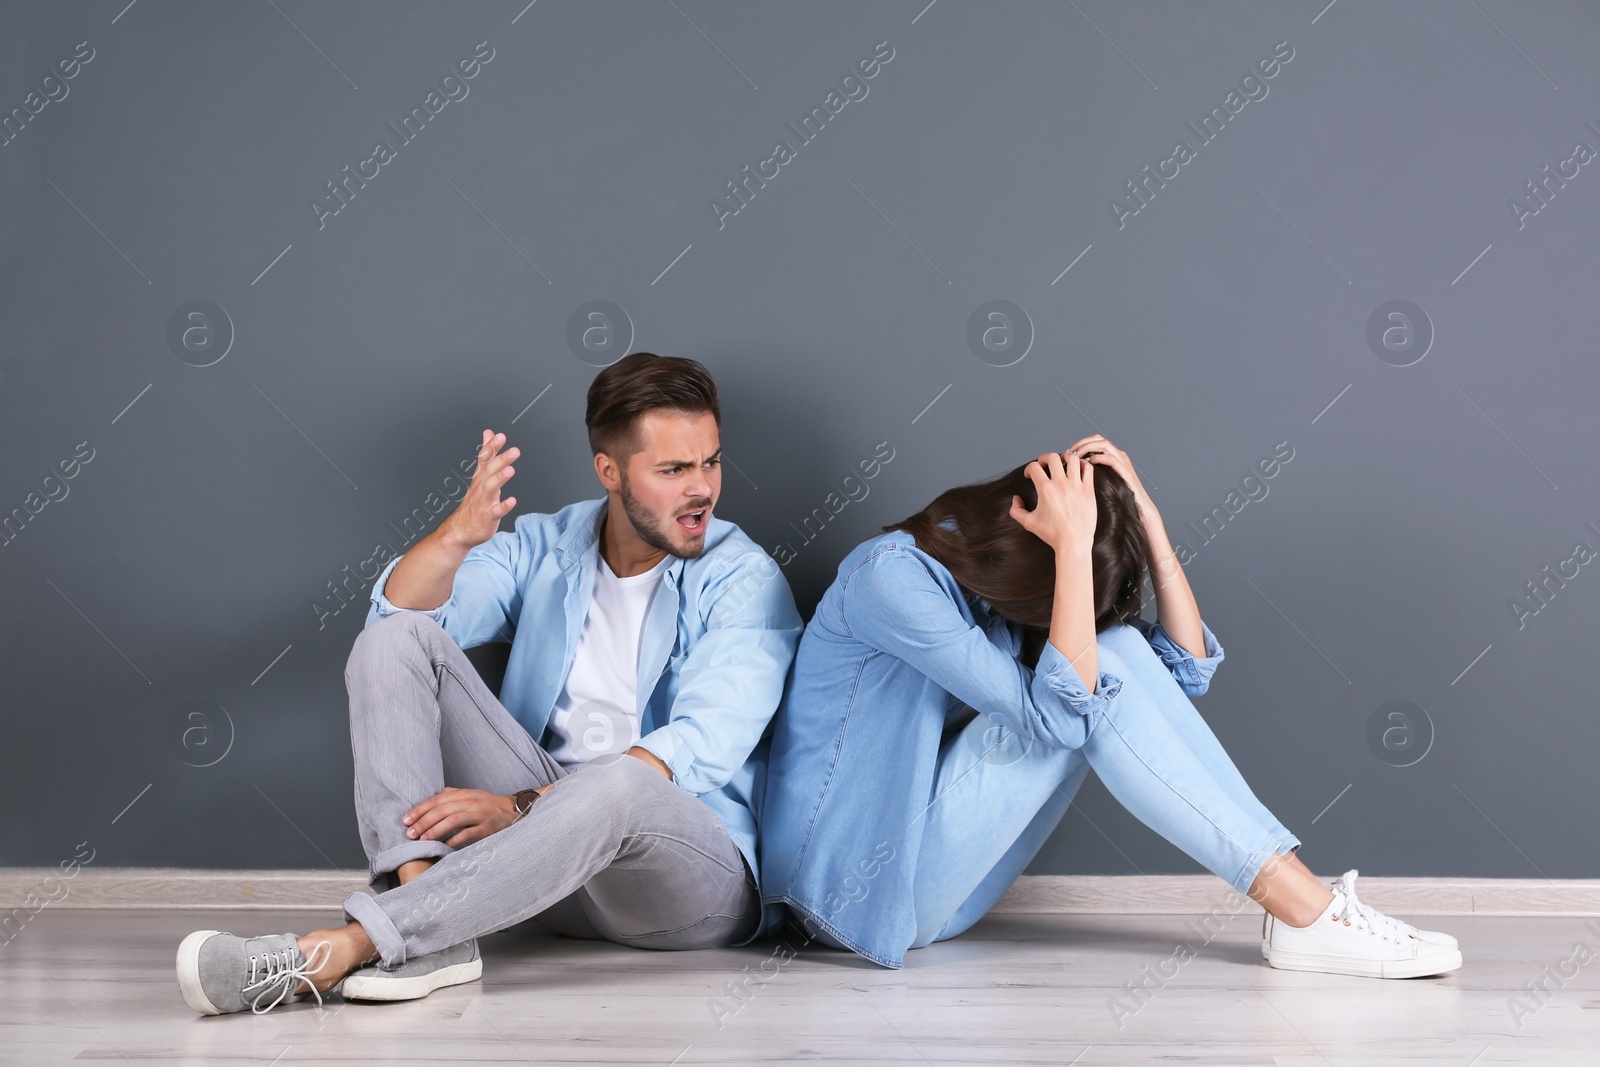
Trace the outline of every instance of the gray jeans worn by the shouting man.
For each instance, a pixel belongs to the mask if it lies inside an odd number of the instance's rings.
[[[710,808],[630,755],[565,771],[427,616],[362,630],[344,681],[355,813],[382,889],[352,893],[344,912],[386,968],[526,918],[640,949],[726,945],[760,921],[755,880]],[[400,822],[445,785],[509,795],[552,782],[526,816],[462,848],[410,840]],[[413,859],[437,862],[395,886]]]

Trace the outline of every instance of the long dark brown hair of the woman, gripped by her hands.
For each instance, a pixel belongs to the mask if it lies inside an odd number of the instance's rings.
[[[1032,462],[1032,461],[1030,461]],[[1050,637],[1056,598],[1056,550],[1011,518],[1011,498],[1021,496],[1032,510],[1038,491],[1013,467],[998,478],[955,486],[928,507],[883,530],[904,530],[917,547],[950,571],[962,589],[989,601],[990,611],[1019,622],[1024,630],[1022,661],[1038,662]],[[1149,542],[1133,490],[1115,470],[1094,466],[1094,632],[1139,616]],[[955,530],[941,523],[954,520]]]

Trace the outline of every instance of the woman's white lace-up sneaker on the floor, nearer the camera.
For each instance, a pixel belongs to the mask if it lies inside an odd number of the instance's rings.
[[[1418,937],[1413,926],[1362,904],[1355,872],[1334,883],[1333,901],[1310,926],[1267,917],[1262,955],[1283,971],[1360,977],[1422,977],[1461,966],[1461,950]]]

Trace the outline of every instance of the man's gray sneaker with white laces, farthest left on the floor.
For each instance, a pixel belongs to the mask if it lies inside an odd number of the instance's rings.
[[[184,1003],[203,1016],[243,1011],[266,1014],[310,985],[333,953],[333,944],[317,942],[312,960],[299,950],[294,934],[235,937],[216,929],[197,929],[178,945],[178,990]],[[326,952],[325,952],[326,949]],[[322,1003],[322,993],[310,989]]]

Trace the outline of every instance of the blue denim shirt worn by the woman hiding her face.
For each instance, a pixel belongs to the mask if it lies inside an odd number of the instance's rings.
[[[1222,648],[1202,622],[1197,659],[1157,622],[1133,625],[1186,694],[1205,693]],[[966,593],[906,531],[845,557],[800,638],[773,721],[762,817],[763,929],[787,905],[814,933],[898,968],[917,933],[922,813],[946,725],[963,705],[1005,729],[1082,747],[1122,680],[1099,672],[1090,693],[1045,643],[1018,661],[1022,627]]]

